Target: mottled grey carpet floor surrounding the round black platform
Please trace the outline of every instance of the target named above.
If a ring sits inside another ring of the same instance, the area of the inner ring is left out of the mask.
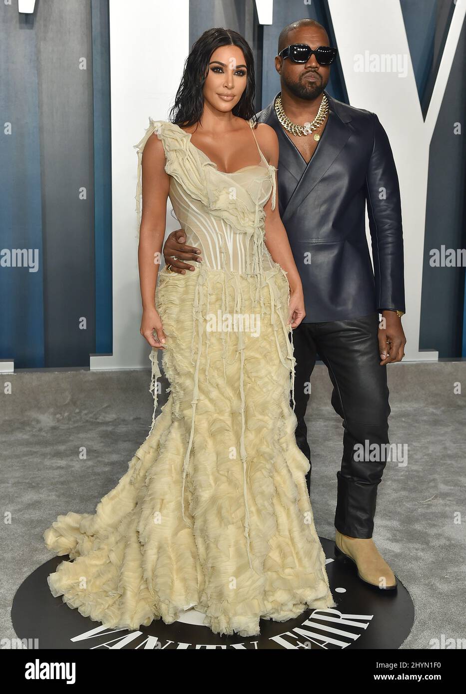
[[[415,624],[401,648],[465,636],[466,362],[388,366],[390,441],[406,444],[407,464],[388,462],[378,487],[374,541],[415,604]],[[58,514],[93,513],[128,468],[149,432],[149,371],[19,371],[1,376],[0,629],[15,638],[13,596],[51,558],[42,532]],[[165,382],[166,384],[166,382]],[[4,387],[2,388],[2,392]],[[334,539],[341,420],[331,383],[318,364],[308,427],[313,457],[311,500],[317,532]],[[160,403],[165,402],[165,387]],[[85,448],[86,455],[80,455]]]

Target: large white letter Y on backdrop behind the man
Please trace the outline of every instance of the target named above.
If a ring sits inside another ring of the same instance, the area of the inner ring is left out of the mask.
[[[397,165],[405,253],[406,358],[435,360],[437,352],[419,352],[428,155],[465,18],[466,0],[455,3],[425,121],[399,0],[328,0],[328,7],[349,103],[378,115]],[[452,114],[452,128],[456,120]]]

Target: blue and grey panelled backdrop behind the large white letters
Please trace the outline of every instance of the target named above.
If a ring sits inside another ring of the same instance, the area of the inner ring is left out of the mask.
[[[113,350],[108,1],[39,5],[34,15],[0,5],[0,359],[17,369],[88,366]],[[425,116],[453,3],[401,9]],[[190,0],[190,42],[210,26],[247,37],[260,110],[279,90],[278,34],[301,17],[335,43],[326,0],[276,2],[272,26],[258,24],[253,0]],[[466,151],[452,126],[466,111],[464,60],[463,27],[431,144],[424,247],[420,347],[444,358],[466,356],[465,269],[433,269],[428,251],[466,246]],[[347,103],[339,62],[328,91]],[[11,266],[15,248],[28,251],[26,266]]]

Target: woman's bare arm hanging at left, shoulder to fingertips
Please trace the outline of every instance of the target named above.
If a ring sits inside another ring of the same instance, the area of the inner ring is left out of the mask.
[[[138,265],[142,299],[141,335],[152,347],[165,342],[162,321],[156,310],[158,268],[165,236],[169,176],[165,171],[165,151],[156,133],[142,152],[142,217],[139,231]],[[158,339],[153,337],[156,330]]]

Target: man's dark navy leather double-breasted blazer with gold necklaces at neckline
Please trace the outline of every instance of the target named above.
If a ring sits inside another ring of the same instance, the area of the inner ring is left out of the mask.
[[[303,282],[304,322],[404,311],[401,204],[390,142],[375,113],[326,96],[328,121],[309,164],[273,103],[257,115],[278,135],[278,207]]]

